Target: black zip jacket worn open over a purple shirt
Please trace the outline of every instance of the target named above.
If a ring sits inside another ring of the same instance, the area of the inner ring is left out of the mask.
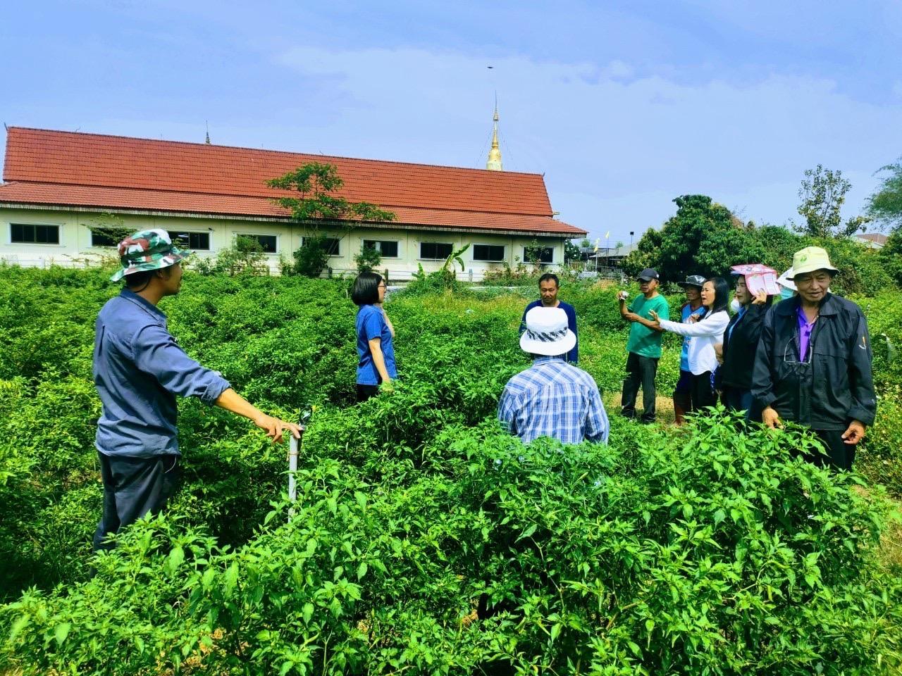
[[[798,297],[764,317],[751,393],[761,407],[815,430],[844,430],[852,418],[873,425],[877,411],[870,374],[870,336],[861,308],[827,294],[799,357]]]

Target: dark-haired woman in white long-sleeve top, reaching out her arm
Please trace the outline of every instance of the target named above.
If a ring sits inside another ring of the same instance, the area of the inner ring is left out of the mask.
[[[681,324],[661,319],[651,313],[653,324],[665,331],[687,336],[689,341],[689,370],[692,371],[692,403],[696,411],[711,407],[717,402],[714,394],[713,372],[717,369],[714,345],[723,343],[723,332],[730,324],[727,307],[730,304],[730,286],[726,279],[707,279],[702,287],[702,306],[705,312],[695,324]]]

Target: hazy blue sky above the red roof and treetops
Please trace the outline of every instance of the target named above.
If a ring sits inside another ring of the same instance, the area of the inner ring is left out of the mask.
[[[505,169],[613,244],[687,193],[798,220],[817,163],[858,213],[902,155],[899,44],[869,0],[18,3],[0,119],[483,167],[497,91]]]

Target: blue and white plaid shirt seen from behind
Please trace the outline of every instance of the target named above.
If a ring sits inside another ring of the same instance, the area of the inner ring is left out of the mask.
[[[594,379],[560,357],[539,357],[504,387],[498,419],[529,443],[550,436],[563,443],[608,441],[608,416]]]

